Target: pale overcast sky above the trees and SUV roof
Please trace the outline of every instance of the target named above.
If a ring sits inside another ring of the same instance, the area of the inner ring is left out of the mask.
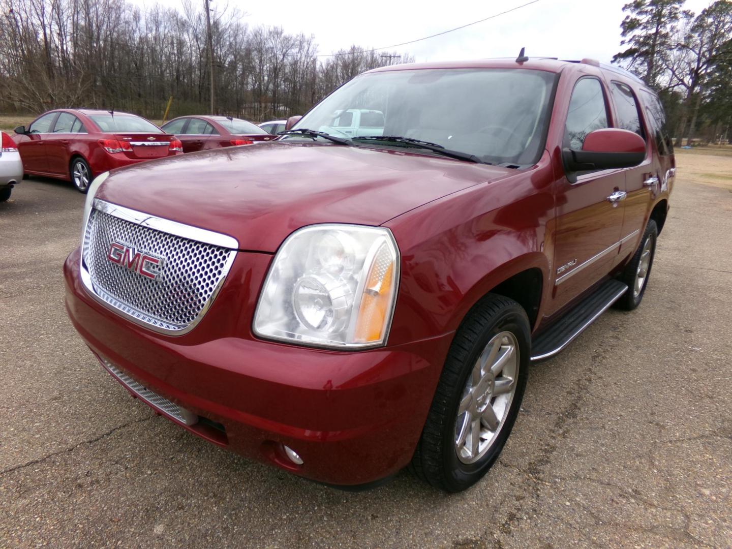
[[[132,0],[142,6],[157,0]],[[200,1],[203,4],[203,0]],[[237,8],[249,26],[281,26],[314,34],[318,53],[360,45],[381,48],[496,15],[530,0],[212,0],[215,10]],[[620,51],[622,7],[629,0],[538,0],[519,10],[414,44],[393,48],[417,61],[517,56],[591,57],[610,62]],[[166,6],[179,5],[176,0]],[[687,0],[695,13],[710,0]]]

